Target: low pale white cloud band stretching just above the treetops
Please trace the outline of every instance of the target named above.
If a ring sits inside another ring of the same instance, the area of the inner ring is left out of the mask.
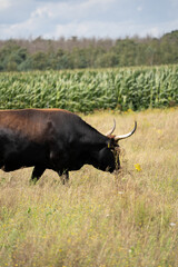
[[[70,38],[77,36],[79,38],[120,38],[132,37],[138,34],[145,37],[150,34],[152,37],[159,37],[171,30],[176,30],[178,20],[167,23],[155,24],[137,24],[134,21],[123,22],[103,22],[103,21],[72,21],[65,24],[58,23],[53,26],[44,17],[31,17],[29,20],[22,23],[16,23],[7,28],[7,26],[0,26],[1,37],[3,38],[29,38],[42,36],[43,38],[60,38],[61,36]],[[43,31],[44,29],[44,31]]]

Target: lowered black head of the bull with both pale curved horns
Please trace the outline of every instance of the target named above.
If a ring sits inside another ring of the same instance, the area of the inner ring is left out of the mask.
[[[120,160],[119,160],[119,145],[118,141],[130,137],[137,129],[137,122],[135,121],[134,129],[122,136],[115,136],[112,132],[116,129],[116,121],[113,120],[113,127],[109,130],[107,136],[107,146],[99,151],[99,169],[108,170],[109,172],[113,172],[120,168]]]

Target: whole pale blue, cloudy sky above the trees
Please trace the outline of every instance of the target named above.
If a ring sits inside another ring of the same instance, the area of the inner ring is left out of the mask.
[[[178,0],[0,0],[0,39],[160,37],[178,29]]]

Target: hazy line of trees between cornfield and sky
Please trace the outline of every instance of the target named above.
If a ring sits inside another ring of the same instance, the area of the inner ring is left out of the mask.
[[[178,63],[178,30],[160,38],[0,40],[0,71]]]

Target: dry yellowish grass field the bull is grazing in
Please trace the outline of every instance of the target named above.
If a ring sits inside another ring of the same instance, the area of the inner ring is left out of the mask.
[[[116,118],[119,176],[90,166],[62,186],[46,171],[0,171],[0,267],[178,266],[178,109],[82,116],[101,132]]]

